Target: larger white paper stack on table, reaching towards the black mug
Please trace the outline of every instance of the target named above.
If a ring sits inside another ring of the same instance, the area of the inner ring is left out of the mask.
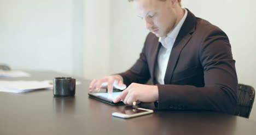
[[[0,91],[21,93],[40,89],[53,89],[49,80],[45,81],[2,81],[0,80]]]

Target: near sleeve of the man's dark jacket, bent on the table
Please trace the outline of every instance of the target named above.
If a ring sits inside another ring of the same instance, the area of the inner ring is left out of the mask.
[[[220,30],[208,33],[199,51],[205,86],[158,85],[158,109],[200,109],[234,114],[238,84],[229,39]]]

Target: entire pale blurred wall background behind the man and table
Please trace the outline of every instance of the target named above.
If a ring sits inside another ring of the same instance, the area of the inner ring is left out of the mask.
[[[228,34],[238,82],[256,89],[256,1],[182,5]],[[127,0],[0,0],[0,63],[12,69],[102,78],[129,69],[147,34]]]

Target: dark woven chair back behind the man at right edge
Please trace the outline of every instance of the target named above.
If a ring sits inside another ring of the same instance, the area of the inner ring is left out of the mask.
[[[254,97],[255,91],[252,86],[238,84],[237,106],[235,115],[249,118],[253,107]]]

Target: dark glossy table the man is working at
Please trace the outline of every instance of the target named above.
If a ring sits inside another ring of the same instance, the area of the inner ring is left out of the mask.
[[[30,72],[23,80],[51,80],[65,75]],[[20,80],[0,79],[0,80]],[[156,110],[132,119],[112,117],[125,105],[113,106],[88,97],[89,80],[77,79],[75,97],[54,97],[52,90],[0,92],[0,134],[255,134],[253,120],[210,111]]]

